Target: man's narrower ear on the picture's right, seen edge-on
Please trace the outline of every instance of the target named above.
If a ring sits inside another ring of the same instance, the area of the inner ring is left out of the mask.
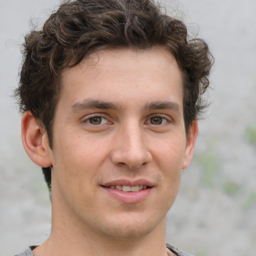
[[[186,137],[186,147],[185,147],[185,154],[184,154],[184,159],[182,163],[182,169],[186,168],[192,159],[194,144],[195,144],[197,134],[198,134],[197,120],[194,120],[190,125],[189,131]]]

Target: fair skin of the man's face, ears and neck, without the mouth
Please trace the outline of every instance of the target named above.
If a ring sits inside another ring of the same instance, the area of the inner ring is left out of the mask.
[[[64,71],[61,86],[52,150],[31,113],[22,118],[28,155],[52,165],[51,234],[34,255],[167,255],[166,212],[197,136],[196,121],[185,134],[174,57],[102,50]],[[120,179],[146,180],[149,192],[116,198],[104,185]]]

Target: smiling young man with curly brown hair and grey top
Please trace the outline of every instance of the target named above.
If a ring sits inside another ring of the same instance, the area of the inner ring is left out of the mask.
[[[151,0],[71,1],[31,31],[16,95],[52,226],[18,255],[190,255],[165,244],[166,213],[211,64]]]

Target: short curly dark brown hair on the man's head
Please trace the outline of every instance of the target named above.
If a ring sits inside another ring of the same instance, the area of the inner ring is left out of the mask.
[[[30,110],[45,128],[52,148],[52,122],[58,101],[61,72],[100,49],[155,45],[167,48],[183,76],[183,115],[188,132],[205,102],[213,63],[208,46],[188,39],[184,23],[170,17],[153,0],[66,1],[42,29],[25,36],[23,65],[17,96],[20,112]],[[50,167],[43,168],[50,189]]]

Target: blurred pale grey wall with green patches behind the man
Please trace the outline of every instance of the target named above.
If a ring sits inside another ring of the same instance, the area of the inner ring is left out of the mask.
[[[215,63],[194,158],[168,212],[166,240],[196,256],[256,255],[256,0],[162,0]],[[0,256],[44,241],[50,201],[25,154],[10,97],[29,20],[43,24],[54,0],[0,0]]]

